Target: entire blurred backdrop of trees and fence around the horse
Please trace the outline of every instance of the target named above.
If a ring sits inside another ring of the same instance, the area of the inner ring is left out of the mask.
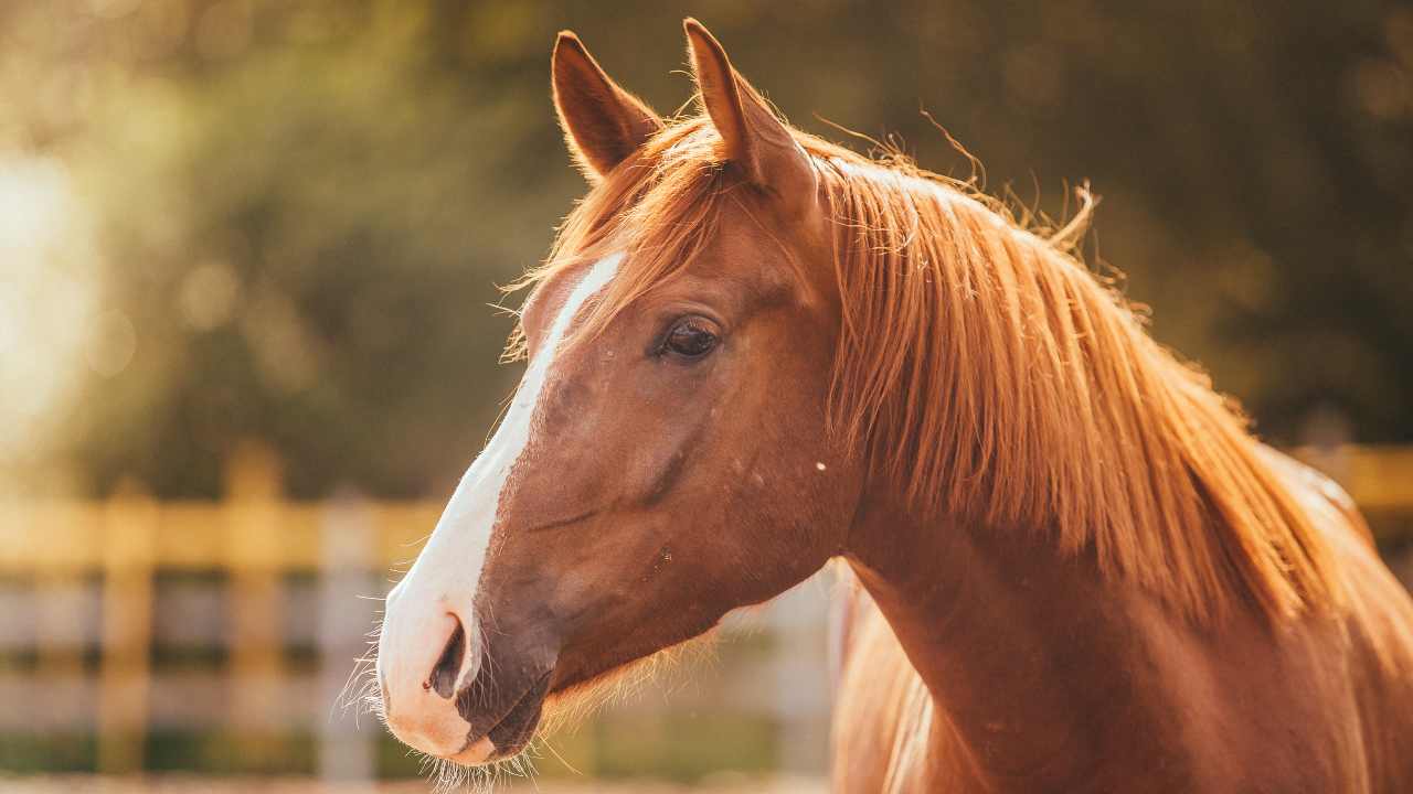
[[[335,704],[519,377],[496,285],[584,192],[554,32],[673,112],[685,14],[805,130],[965,177],[927,110],[1056,216],[1089,179],[1091,261],[1413,581],[1406,3],[6,0],[0,786],[425,790]],[[561,733],[543,790],[818,791],[828,586]]]

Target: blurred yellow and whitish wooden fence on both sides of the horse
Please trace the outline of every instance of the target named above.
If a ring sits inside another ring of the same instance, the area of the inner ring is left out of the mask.
[[[1299,455],[1331,472],[1365,510],[1413,513],[1413,448],[1341,446]],[[406,569],[442,509],[441,503],[374,503],[352,494],[321,503],[285,502],[277,461],[259,446],[232,459],[226,486],[226,499],[219,503],[158,503],[140,487],[124,486],[97,503],[0,504],[0,578],[25,582],[34,591],[35,671],[49,684],[88,681],[102,771],[144,767],[158,572],[225,575],[229,653],[220,675],[230,694],[222,719],[237,729],[259,728],[270,715],[284,713],[281,699],[290,691],[278,620],[284,576],[304,572],[318,581],[317,644],[324,672],[311,698],[332,705],[352,660],[366,647],[365,633],[377,606],[366,599],[386,593],[386,571]],[[1405,575],[1413,572],[1413,543],[1382,540],[1403,543]],[[100,582],[97,668],[88,675],[82,657],[92,643],[90,632],[79,624],[81,610],[65,606],[62,593],[95,579]],[[762,677],[763,691],[742,698],[759,701],[764,694],[779,722],[796,726],[790,729],[796,740],[783,743],[786,753],[798,756],[786,759],[796,770],[822,764],[828,709],[818,653],[822,602],[797,598],[787,609],[777,608],[769,624],[786,639],[786,647],[770,663],[774,674]],[[352,608],[359,603],[365,608]],[[801,644],[817,647],[803,651]],[[814,661],[801,668],[801,658]],[[780,687],[780,681],[791,685]],[[336,767],[343,776],[372,774],[367,739],[350,737],[341,721],[322,722],[326,725],[315,726],[321,766]]]

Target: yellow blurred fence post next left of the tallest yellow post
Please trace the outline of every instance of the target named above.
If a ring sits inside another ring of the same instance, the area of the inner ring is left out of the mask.
[[[136,483],[120,486],[103,510],[97,769],[105,774],[143,769],[157,521],[157,503]]]

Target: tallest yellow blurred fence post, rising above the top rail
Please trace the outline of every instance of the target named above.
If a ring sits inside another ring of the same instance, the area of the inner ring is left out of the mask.
[[[259,442],[242,442],[226,462],[230,723],[253,766],[266,756],[268,715],[281,705],[280,476],[280,461]]]

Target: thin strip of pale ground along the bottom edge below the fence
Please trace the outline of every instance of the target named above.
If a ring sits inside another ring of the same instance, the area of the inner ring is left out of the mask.
[[[114,778],[97,776],[4,777],[4,794],[428,794],[430,781],[384,784],[321,783],[308,778],[212,778],[158,776]],[[471,794],[471,788],[459,788]],[[661,783],[565,783],[513,781],[497,784],[504,794],[824,794],[824,784],[812,780],[721,780],[695,787]]]

